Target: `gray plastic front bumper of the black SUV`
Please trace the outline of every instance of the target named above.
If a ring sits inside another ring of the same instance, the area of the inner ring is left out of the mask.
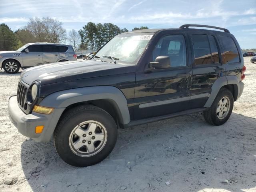
[[[18,131],[36,142],[48,142],[52,137],[54,129],[58,120],[65,108],[55,108],[50,115],[39,114],[32,112],[32,114],[25,114],[17,103],[17,97],[11,96],[8,102],[9,117]],[[36,133],[36,126],[44,126],[42,133]]]

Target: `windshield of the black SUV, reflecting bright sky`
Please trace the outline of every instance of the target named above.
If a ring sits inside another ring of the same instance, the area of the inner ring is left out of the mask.
[[[95,58],[110,62],[113,58],[118,63],[136,64],[152,36],[152,33],[120,34],[104,45]]]

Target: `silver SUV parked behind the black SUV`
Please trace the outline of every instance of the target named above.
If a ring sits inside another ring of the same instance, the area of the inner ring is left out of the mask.
[[[4,68],[7,73],[17,73],[20,68],[75,60],[73,47],[58,43],[28,43],[17,51],[0,51],[1,69]]]

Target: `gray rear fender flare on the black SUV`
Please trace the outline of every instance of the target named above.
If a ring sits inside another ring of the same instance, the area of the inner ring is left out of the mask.
[[[234,94],[235,94],[234,98],[238,98],[240,95],[240,85],[239,85],[237,76],[235,75],[222,76],[218,78],[212,85],[212,92],[206,104],[204,104],[204,107],[207,107],[207,108],[211,107],[220,88],[228,84],[234,84]]]

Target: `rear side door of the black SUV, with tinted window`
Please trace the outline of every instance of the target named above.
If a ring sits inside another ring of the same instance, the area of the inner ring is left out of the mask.
[[[212,85],[224,76],[225,66],[220,57],[220,46],[213,32],[190,32],[193,75],[189,108],[203,107],[212,92]]]

